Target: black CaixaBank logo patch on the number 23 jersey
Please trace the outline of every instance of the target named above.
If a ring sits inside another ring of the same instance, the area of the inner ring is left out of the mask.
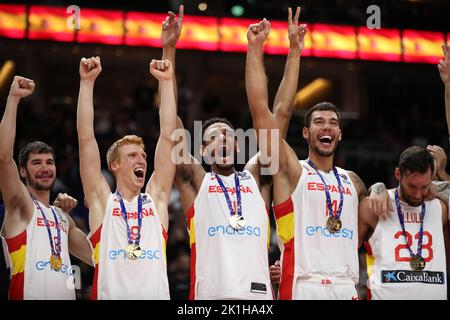
[[[445,277],[443,272],[436,271],[382,270],[381,282],[445,284]]]

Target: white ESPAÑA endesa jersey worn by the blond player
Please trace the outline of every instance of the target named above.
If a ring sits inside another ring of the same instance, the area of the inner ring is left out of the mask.
[[[92,299],[170,299],[167,279],[167,233],[161,225],[152,197],[142,197],[142,255],[131,260],[126,256],[127,226],[120,202],[110,194],[102,225],[89,236],[94,252],[95,273]],[[133,242],[138,234],[136,196],[123,199]]]

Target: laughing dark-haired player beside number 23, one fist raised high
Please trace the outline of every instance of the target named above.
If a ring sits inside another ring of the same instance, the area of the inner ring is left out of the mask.
[[[278,129],[267,104],[263,65],[269,32],[266,19],[249,26],[246,88],[260,152],[270,157],[264,162],[279,161],[273,197],[281,246],[280,299],[357,299],[358,198],[366,189],[356,174],[333,164],[341,140],[340,116],[333,104],[319,103],[305,116],[306,161],[299,162],[283,139],[263,136],[260,129]],[[279,156],[269,152],[272,143],[278,143]]]

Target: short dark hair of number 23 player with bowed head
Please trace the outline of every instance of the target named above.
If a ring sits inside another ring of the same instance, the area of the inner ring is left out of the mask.
[[[412,146],[402,152],[398,160],[398,168],[402,175],[412,172],[434,172],[434,160],[430,152],[423,147]]]

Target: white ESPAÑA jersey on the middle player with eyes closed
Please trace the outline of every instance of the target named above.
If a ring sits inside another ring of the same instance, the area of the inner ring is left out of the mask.
[[[236,210],[234,174],[222,176]],[[255,178],[239,173],[243,229],[229,224],[230,210],[213,173],[206,173],[187,213],[191,247],[190,299],[273,299],[269,276],[269,216]]]

